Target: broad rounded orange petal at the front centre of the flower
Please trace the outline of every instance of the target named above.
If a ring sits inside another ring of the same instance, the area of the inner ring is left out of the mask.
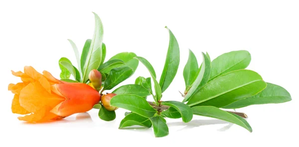
[[[19,95],[20,106],[32,113],[39,113],[40,109],[53,109],[65,98],[48,93],[39,82],[29,83]],[[50,110],[51,110],[50,109]]]

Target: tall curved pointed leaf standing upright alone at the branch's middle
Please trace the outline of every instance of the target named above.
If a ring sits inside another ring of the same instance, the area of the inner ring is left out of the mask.
[[[167,26],[165,26],[165,28],[167,28],[169,32],[169,45],[164,69],[159,82],[162,93],[168,88],[174,79],[179,64],[178,43],[171,30]]]

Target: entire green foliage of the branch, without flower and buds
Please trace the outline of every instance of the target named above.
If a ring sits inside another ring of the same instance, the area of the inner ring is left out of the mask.
[[[169,134],[165,118],[181,119],[188,123],[193,115],[231,122],[252,132],[244,118],[224,109],[292,100],[286,89],[267,83],[257,72],[246,69],[251,61],[251,54],[246,50],[224,53],[212,61],[208,53],[202,52],[202,62],[198,64],[195,54],[189,49],[188,61],[183,70],[185,89],[182,101],[162,101],[162,94],[176,76],[180,62],[178,42],[171,30],[167,30],[168,50],[163,71],[157,80],[157,74],[149,61],[135,53],[119,53],[104,62],[106,45],[103,43],[103,25],[95,14],[94,36],[86,40],[81,58],[75,43],[69,40],[78,68],[63,57],[59,60],[60,77],[64,81],[88,84],[88,73],[97,69],[102,73],[103,93],[132,76],[141,62],[148,69],[150,77],[140,76],[135,84],[116,88],[112,93],[117,95],[111,99],[110,105],[131,111],[125,114],[120,129],[131,126],[153,127],[155,137]],[[69,79],[70,75],[73,75],[74,80]],[[153,102],[147,101],[149,96],[152,96]],[[116,118],[115,111],[106,110],[101,103],[94,108],[99,109],[99,117],[104,121]]]

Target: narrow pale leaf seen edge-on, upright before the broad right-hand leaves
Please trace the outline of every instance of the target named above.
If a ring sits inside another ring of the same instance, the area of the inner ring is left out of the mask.
[[[200,72],[196,80],[194,81],[192,87],[185,95],[183,102],[189,101],[190,98],[209,81],[211,71],[211,60],[204,53],[202,53],[202,57],[203,61],[201,64]]]

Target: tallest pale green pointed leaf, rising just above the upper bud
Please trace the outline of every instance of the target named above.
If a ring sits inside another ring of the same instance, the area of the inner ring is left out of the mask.
[[[102,62],[103,24],[100,17],[95,15],[95,31],[88,50],[86,62],[84,64],[83,82],[88,80],[88,74],[93,69],[98,69]]]

